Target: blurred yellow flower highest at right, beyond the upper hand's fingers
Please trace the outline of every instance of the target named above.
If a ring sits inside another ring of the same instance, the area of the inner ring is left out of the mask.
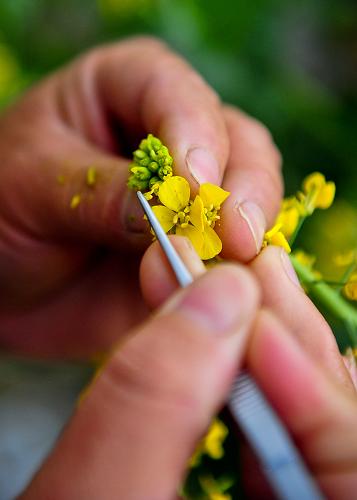
[[[329,208],[335,198],[336,186],[334,182],[326,182],[320,172],[308,175],[303,181],[303,193],[300,193],[301,202],[306,215],[311,215],[315,208]]]

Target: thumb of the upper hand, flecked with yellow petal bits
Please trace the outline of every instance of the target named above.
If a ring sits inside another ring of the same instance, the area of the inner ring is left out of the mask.
[[[43,92],[36,92],[5,121],[1,148],[2,157],[8,160],[1,171],[6,186],[1,191],[4,219],[41,241],[148,244],[142,209],[126,186],[127,160],[105,153],[68,127],[59,126],[58,117],[52,114],[45,114],[29,129],[25,121],[28,107],[41,108],[41,96],[49,98],[48,89]],[[16,154],[14,130],[24,136]],[[93,179],[88,178],[91,170]]]

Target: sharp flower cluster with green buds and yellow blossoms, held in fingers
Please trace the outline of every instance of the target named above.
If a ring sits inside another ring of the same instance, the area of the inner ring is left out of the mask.
[[[189,183],[184,177],[173,175],[172,163],[167,147],[149,134],[134,151],[128,187],[143,191],[148,200],[155,197],[161,203],[152,208],[166,233],[185,236],[202,260],[212,259],[222,250],[214,226],[229,193],[206,183],[191,199]]]

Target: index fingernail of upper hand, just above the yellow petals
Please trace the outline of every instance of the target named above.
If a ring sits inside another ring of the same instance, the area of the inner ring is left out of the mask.
[[[198,184],[219,184],[219,165],[215,157],[205,148],[194,147],[186,155],[187,168]]]

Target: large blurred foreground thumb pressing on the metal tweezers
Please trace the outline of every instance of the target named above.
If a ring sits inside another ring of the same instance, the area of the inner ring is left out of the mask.
[[[233,265],[174,295],[113,354],[22,498],[176,497],[229,390],[257,302],[255,282]]]

